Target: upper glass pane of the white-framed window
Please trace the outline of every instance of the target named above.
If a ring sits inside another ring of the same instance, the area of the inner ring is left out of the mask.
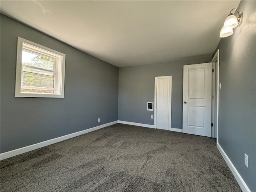
[[[54,70],[54,60],[30,52],[22,51],[22,64]]]

